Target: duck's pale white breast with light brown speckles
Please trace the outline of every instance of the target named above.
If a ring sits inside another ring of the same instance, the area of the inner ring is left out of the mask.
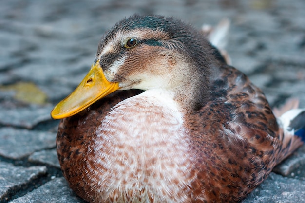
[[[96,129],[92,169],[102,199],[185,202],[191,183],[189,136],[177,104],[146,91],[126,99]]]

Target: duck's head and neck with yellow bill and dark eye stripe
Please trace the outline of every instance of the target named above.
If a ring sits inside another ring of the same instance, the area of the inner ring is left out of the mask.
[[[51,116],[72,116],[116,90],[129,89],[162,89],[194,111],[208,95],[213,51],[196,30],[174,18],[123,19],[102,37],[91,70]]]

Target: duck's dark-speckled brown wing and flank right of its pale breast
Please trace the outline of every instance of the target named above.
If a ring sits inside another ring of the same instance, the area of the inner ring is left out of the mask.
[[[284,133],[264,93],[240,71],[228,65],[217,68],[210,88],[209,102],[189,124],[196,146],[194,157],[198,163],[204,163],[196,166],[204,181],[192,186],[205,187],[205,196],[211,200],[238,201],[302,142]],[[197,195],[199,198],[200,193]]]

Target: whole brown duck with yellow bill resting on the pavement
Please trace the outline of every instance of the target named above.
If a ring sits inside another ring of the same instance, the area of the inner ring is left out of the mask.
[[[63,176],[90,203],[235,203],[303,144],[304,112],[275,117],[191,25],[135,14],[51,116]]]

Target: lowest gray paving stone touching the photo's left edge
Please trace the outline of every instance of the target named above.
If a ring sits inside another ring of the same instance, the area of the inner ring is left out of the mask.
[[[46,172],[46,166],[22,167],[0,162],[0,202],[4,202],[9,193],[25,187]]]

